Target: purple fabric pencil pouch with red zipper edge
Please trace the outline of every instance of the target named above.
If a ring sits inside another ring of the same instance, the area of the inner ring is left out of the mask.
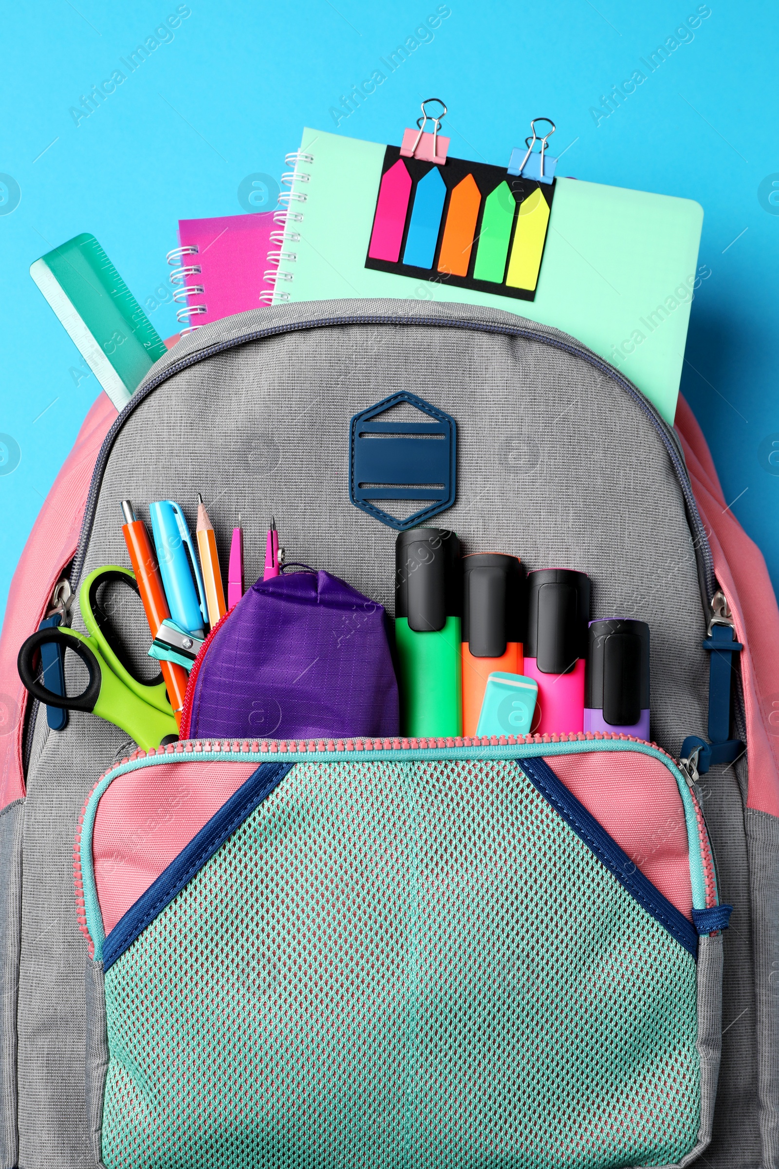
[[[397,735],[384,609],[329,573],[257,581],[193,666],[181,738]]]

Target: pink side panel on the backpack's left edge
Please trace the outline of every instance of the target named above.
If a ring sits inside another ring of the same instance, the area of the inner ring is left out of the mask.
[[[72,450],[43,500],[11,582],[0,635],[0,808],[25,795],[22,731],[28,694],[16,672],[19,649],[46,614],[54,586],[72,560],[98,451],[117,408],[100,393],[84,419]]]

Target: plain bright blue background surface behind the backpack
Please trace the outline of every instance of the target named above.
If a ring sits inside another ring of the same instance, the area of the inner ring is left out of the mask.
[[[767,459],[771,436],[779,442],[779,214],[758,200],[761,180],[779,178],[775,9],[712,0],[694,39],[596,125],[590,108],[634,70],[648,72],[640,58],[697,4],[451,0],[448,7],[433,39],[339,132],[397,143],[422,98],[434,94],[450,108],[452,153],[501,164],[529,119],[548,115],[558,126],[552,153],[569,147],[562,174],[702,203],[700,262],[710,275],[693,304],[682,390],[725,498],[779,584],[779,465]],[[0,431],[15,438],[21,458],[0,475],[0,606],[99,389],[93,375],[76,383],[71,371],[83,364],[30,279],[32,261],[92,231],[144,304],[167,279],[176,220],[241,213],[242,179],[260,172],[278,181],[304,124],[335,130],[331,108],[383,68],[380,57],[413,35],[437,4],[193,0],[174,39],[76,126],[70,106],[176,8],[168,0],[48,0],[4,9],[0,172],[16,180],[21,201],[0,214]],[[162,337],[176,332],[169,300],[149,316]]]

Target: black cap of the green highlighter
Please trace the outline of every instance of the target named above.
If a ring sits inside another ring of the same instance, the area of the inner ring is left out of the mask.
[[[440,527],[399,532],[395,541],[395,616],[417,634],[438,632],[462,611],[460,541]]]

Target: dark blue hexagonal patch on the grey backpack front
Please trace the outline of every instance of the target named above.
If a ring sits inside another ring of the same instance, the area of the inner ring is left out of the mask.
[[[434,421],[378,421],[401,402]],[[349,496],[355,507],[405,532],[452,506],[457,494],[457,423],[451,415],[402,390],[355,414],[350,429]],[[381,499],[430,504],[398,519],[376,506]]]

